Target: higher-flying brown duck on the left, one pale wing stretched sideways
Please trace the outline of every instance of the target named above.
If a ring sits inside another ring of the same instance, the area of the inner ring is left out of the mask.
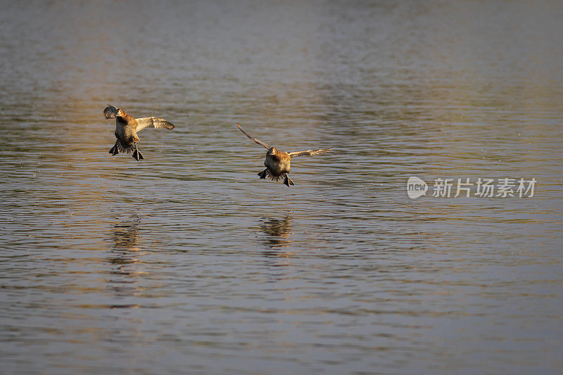
[[[109,153],[112,156],[118,153],[130,153],[133,151],[133,158],[137,161],[143,160],[143,154],[137,148],[137,142],[140,141],[137,132],[146,127],[154,127],[156,129],[174,129],[174,125],[167,120],[159,117],[141,117],[135,118],[125,113],[121,108],[115,108],[108,104],[103,110],[106,119],[115,118],[115,144],[110,148]]]

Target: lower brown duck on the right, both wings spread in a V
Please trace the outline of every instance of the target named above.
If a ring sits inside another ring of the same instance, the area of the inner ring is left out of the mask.
[[[243,132],[244,135],[248,136],[248,138],[267,149],[266,159],[264,160],[264,166],[266,169],[262,170],[262,172],[258,172],[258,177],[260,177],[260,179],[268,177],[273,181],[279,181],[279,179],[283,178],[284,184],[287,187],[295,185],[288,176],[289,171],[291,170],[291,158],[296,158],[297,156],[320,155],[322,153],[332,151],[332,148],[317,148],[316,150],[293,151],[291,153],[286,153],[253,138],[241,128],[241,125],[238,122],[236,123],[236,126],[238,126],[240,131]]]

